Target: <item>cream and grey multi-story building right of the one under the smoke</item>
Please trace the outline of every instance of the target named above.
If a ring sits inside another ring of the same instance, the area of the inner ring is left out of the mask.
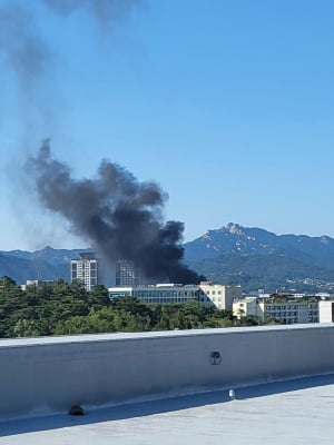
[[[284,324],[317,323],[318,299],[316,297],[246,297],[233,303],[236,317],[256,316],[262,320]]]

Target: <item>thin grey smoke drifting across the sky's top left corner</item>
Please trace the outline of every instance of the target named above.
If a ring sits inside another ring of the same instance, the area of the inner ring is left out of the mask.
[[[52,48],[38,29],[36,7],[58,16],[85,10],[102,31],[110,31],[145,0],[0,0],[0,62],[16,72],[20,95],[32,101]],[[60,31],[61,32],[61,31]],[[2,67],[3,69],[3,67]]]

